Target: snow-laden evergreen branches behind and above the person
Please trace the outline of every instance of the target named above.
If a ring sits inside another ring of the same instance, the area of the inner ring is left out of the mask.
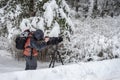
[[[29,28],[31,31],[42,29],[46,35],[55,28],[69,37],[72,32],[70,8],[65,0],[2,0],[0,5],[0,36],[7,37],[13,44],[16,34]],[[54,35],[56,36],[56,35]],[[14,53],[13,48],[13,53]]]

